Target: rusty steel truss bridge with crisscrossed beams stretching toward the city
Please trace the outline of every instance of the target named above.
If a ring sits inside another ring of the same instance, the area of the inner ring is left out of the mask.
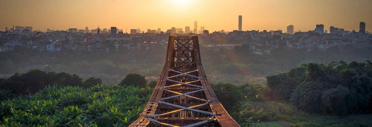
[[[240,127],[208,83],[197,36],[169,36],[160,79],[129,127]]]

